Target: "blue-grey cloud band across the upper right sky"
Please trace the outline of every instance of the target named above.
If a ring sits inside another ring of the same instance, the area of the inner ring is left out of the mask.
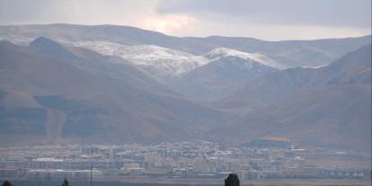
[[[275,24],[371,26],[370,0],[163,0],[157,11],[196,17],[217,13]]]

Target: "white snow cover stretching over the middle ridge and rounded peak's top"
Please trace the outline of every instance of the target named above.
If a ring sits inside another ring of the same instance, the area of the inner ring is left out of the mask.
[[[217,48],[205,55],[197,56],[176,49],[167,49],[155,45],[122,45],[105,40],[70,43],[75,47],[92,49],[106,56],[125,58],[134,65],[140,66],[160,77],[182,76],[190,71],[208,65],[221,58],[241,58],[249,68],[252,63],[274,68],[283,68],[273,59],[262,54],[246,53],[235,49]]]

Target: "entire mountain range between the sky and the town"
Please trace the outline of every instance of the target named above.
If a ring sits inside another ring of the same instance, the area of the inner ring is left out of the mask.
[[[115,25],[0,26],[6,144],[370,147],[371,36],[178,38]]]

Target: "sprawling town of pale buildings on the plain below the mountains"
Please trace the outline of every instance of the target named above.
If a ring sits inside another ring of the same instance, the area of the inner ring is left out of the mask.
[[[320,149],[316,149],[320,150]],[[0,147],[0,178],[104,180],[120,178],[221,178],[243,180],[368,179],[370,169],[306,164],[313,151],[286,140],[258,139],[239,146],[208,141],[152,145]]]

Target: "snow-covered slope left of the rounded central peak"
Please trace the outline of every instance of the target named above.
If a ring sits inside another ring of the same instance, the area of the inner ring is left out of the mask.
[[[128,59],[160,76],[179,76],[208,64],[208,58],[155,45],[121,45],[109,41],[72,43],[76,47],[92,49],[106,56]]]

